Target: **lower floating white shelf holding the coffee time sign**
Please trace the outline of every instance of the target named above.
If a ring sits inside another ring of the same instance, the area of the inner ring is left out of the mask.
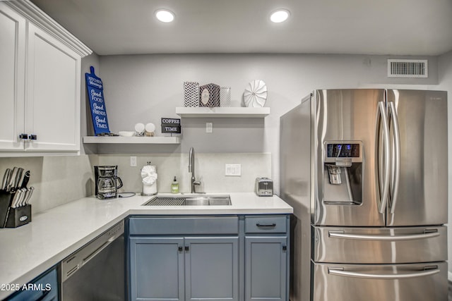
[[[154,145],[178,145],[181,143],[180,137],[97,137],[97,136],[84,136],[83,143],[118,143],[118,144],[154,144]]]

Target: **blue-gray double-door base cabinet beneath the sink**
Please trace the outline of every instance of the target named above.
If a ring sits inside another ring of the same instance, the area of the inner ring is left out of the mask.
[[[131,300],[239,300],[238,219],[199,219],[131,220]]]

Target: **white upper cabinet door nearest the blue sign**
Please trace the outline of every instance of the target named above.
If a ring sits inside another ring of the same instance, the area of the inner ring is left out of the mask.
[[[27,55],[25,150],[80,150],[81,56],[32,23]]]

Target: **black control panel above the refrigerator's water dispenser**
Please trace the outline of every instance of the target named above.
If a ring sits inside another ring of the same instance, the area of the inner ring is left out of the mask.
[[[361,141],[327,141],[325,146],[325,162],[337,165],[338,161],[362,162]]]

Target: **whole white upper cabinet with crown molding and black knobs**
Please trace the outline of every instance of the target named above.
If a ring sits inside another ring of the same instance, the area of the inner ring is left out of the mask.
[[[84,44],[29,1],[0,1],[0,155],[80,151]]]

